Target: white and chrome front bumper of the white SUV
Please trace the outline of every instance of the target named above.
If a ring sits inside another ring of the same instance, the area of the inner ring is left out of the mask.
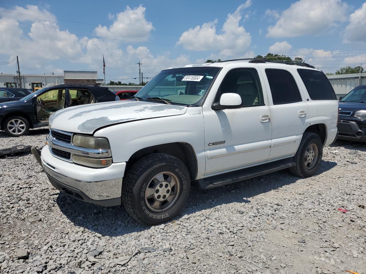
[[[48,145],[42,148],[41,163],[56,189],[97,205],[121,204],[122,177],[126,163],[113,163],[106,168],[83,167],[54,157]]]

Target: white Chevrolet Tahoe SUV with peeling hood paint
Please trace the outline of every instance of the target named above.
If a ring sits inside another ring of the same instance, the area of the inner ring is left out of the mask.
[[[332,86],[310,65],[193,64],[160,72],[130,100],[57,111],[34,155],[60,191],[159,224],[182,210],[191,183],[313,175],[337,116]]]

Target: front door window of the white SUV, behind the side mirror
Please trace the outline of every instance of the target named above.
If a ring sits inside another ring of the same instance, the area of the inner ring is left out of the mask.
[[[215,102],[219,102],[221,94],[236,93],[242,98],[242,107],[264,106],[263,92],[256,69],[233,69],[227,73]]]

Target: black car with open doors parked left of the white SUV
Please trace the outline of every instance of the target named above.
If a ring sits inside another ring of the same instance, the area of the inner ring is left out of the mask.
[[[48,126],[49,117],[57,110],[115,100],[119,101],[118,96],[107,87],[98,85],[55,85],[42,88],[18,101],[0,103],[0,129],[9,136],[22,136],[30,128]]]

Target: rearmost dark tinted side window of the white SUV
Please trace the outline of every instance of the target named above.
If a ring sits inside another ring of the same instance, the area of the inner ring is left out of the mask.
[[[332,85],[320,71],[298,69],[311,100],[337,100]]]

